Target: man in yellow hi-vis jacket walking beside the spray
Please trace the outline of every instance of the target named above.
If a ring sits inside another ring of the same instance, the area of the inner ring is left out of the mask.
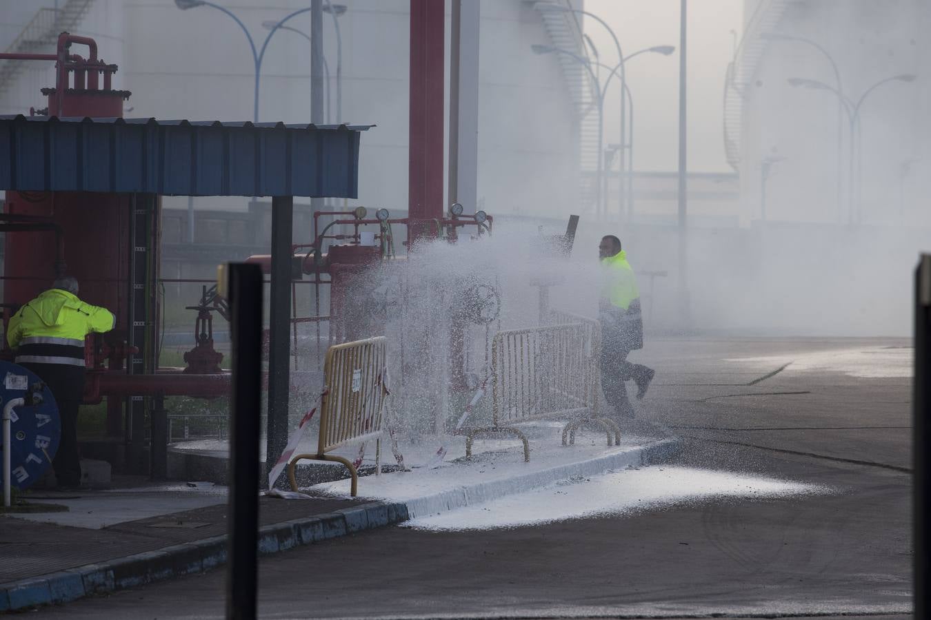
[[[637,277],[621,241],[614,235],[601,238],[598,246],[604,285],[601,290],[601,389],[618,416],[634,416],[627,400],[625,382],[637,383],[637,398],[643,398],[654,370],[639,363],[627,362],[627,354],[643,348],[643,321]]]

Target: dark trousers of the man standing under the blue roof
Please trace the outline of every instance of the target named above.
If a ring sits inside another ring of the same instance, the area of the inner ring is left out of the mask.
[[[52,459],[59,486],[81,482],[81,462],[77,454],[77,408],[84,401],[84,367],[66,363],[20,363],[33,371],[51,390],[61,419],[61,442]]]

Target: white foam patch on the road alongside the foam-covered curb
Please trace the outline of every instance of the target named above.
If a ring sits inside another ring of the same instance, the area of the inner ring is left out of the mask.
[[[575,477],[542,489],[407,521],[423,530],[487,530],[631,514],[704,498],[769,498],[830,493],[821,485],[729,471],[649,467]]]

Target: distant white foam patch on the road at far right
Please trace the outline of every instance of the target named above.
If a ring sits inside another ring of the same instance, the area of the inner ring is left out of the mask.
[[[912,375],[914,350],[909,348],[861,347],[771,355],[766,357],[733,358],[734,363],[779,367],[789,363],[787,371],[821,370],[843,373],[857,378],[908,378]]]

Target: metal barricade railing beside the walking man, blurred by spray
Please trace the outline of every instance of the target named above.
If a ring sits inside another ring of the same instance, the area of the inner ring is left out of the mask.
[[[614,421],[598,416],[600,326],[597,321],[552,313],[559,323],[498,332],[492,340],[492,425],[466,432],[466,456],[480,434],[510,434],[530,445],[516,424],[569,418],[562,443],[590,423],[604,429],[608,445],[620,443]]]

